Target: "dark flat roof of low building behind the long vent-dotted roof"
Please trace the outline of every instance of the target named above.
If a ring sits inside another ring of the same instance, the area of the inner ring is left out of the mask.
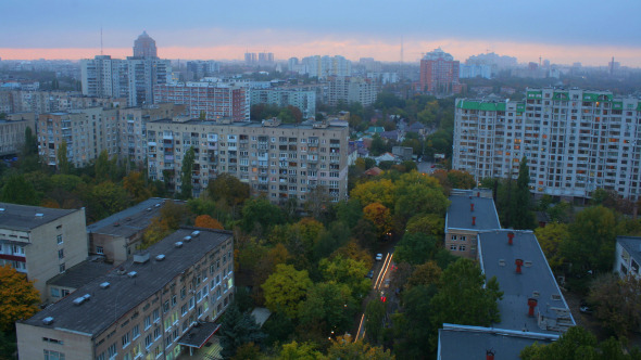
[[[165,198],[151,197],[87,227],[88,233],[129,237],[144,230],[160,215]]]

